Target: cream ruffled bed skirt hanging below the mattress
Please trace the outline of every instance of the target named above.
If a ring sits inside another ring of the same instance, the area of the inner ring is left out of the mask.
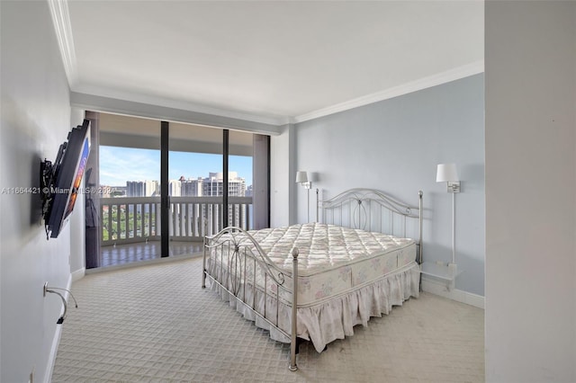
[[[388,274],[378,281],[328,301],[311,307],[298,307],[298,336],[310,340],[316,351],[322,352],[328,343],[353,335],[355,325],[366,326],[372,316],[387,315],[393,306],[401,306],[402,302],[410,297],[418,298],[419,278],[419,265],[413,263],[401,272]],[[249,294],[252,289],[247,289],[245,299],[250,302],[247,304],[210,278],[208,280],[211,282],[211,289],[218,291],[220,297],[229,302],[230,307],[235,307],[258,327],[268,330],[275,341],[290,343],[292,308],[289,304],[266,297],[266,321],[252,309],[254,305],[258,312],[264,312],[263,295],[257,292],[254,299]]]

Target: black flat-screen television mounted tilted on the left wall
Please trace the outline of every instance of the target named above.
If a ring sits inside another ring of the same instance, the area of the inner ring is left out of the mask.
[[[50,196],[44,215],[47,234],[52,238],[58,237],[74,209],[89,154],[90,121],[84,120],[68,133],[67,142],[60,146],[52,165],[53,182],[48,187]]]

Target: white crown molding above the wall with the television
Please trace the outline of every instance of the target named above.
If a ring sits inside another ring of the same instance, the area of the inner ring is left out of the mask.
[[[68,79],[68,85],[73,88],[78,80],[76,72],[76,50],[74,49],[74,40],[72,38],[72,26],[70,24],[70,13],[68,12],[67,0],[48,0],[54,31],[62,63]]]

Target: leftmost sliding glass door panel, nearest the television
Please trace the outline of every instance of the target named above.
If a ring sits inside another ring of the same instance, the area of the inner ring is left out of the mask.
[[[98,129],[98,150],[93,147],[91,153],[99,159],[97,181],[102,191],[99,211],[91,214],[100,224],[100,264],[94,267],[156,258],[162,218],[160,125],[155,120],[99,113]]]

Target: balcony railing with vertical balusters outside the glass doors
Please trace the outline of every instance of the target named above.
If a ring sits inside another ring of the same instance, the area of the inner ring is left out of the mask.
[[[170,197],[169,236],[178,241],[202,241],[220,231],[222,197]],[[252,197],[229,197],[229,225],[251,228]],[[100,199],[102,245],[159,240],[160,197]]]

